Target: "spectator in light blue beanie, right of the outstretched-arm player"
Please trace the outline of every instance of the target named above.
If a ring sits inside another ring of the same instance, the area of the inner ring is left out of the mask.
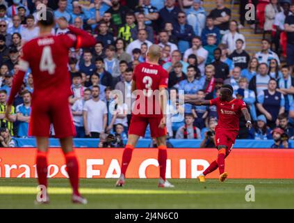
[[[250,139],[272,139],[271,130],[266,125],[266,116],[263,114],[257,117],[257,123],[255,123],[253,128],[250,130]]]

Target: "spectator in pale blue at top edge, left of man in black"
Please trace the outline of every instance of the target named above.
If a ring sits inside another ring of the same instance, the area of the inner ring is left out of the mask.
[[[201,36],[205,26],[206,12],[201,6],[200,0],[194,0],[193,6],[186,10],[187,21],[193,27],[196,36]]]

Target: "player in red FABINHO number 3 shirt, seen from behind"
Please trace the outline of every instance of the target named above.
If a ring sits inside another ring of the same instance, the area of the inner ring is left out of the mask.
[[[133,149],[140,136],[145,136],[145,130],[149,123],[151,136],[155,137],[158,145],[158,163],[160,178],[158,187],[174,187],[165,179],[167,149],[166,149],[166,113],[168,85],[168,72],[158,65],[161,57],[161,48],[158,45],[149,47],[147,63],[136,66],[133,75],[132,93],[137,95],[132,111],[129,127],[129,139],[122,155],[121,175],[116,186],[121,187],[125,183],[126,169],[131,161]],[[136,91],[135,91],[136,90]],[[142,100],[143,99],[143,100]]]

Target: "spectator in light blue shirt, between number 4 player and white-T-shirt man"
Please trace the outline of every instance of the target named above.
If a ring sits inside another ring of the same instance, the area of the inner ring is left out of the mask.
[[[90,100],[91,90],[85,89],[83,91],[83,97],[79,98],[72,105],[72,116],[74,121],[74,126],[76,128],[76,137],[84,138],[85,137],[85,128],[83,126],[83,105],[87,100]]]

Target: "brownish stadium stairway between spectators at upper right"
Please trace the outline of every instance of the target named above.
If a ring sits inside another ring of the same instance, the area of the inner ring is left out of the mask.
[[[239,14],[239,2],[242,0],[234,0],[234,4],[231,4],[231,0],[225,0],[224,5],[227,8],[231,9],[231,20],[236,20],[240,24],[240,14]],[[215,8],[215,0],[204,0],[202,5],[206,13],[209,14],[211,10]],[[250,24],[245,22],[245,27],[240,29],[240,33],[245,36],[246,40],[246,51],[250,56],[253,56],[256,52],[258,52],[261,48],[261,39],[263,38],[263,34],[254,33],[254,29],[250,28]]]

